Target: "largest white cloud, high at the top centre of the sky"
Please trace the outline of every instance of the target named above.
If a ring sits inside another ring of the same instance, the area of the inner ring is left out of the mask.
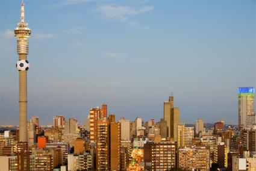
[[[137,16],[139,14],[147,13],[151,10],[154,10],[153,6],[145,6],[143,8],[136,9],[128,6],[115,7],[111,5],[103,5],[96,9],[96,11],[101,13],[104,17],[120,21],[126,21],[130,16]]]

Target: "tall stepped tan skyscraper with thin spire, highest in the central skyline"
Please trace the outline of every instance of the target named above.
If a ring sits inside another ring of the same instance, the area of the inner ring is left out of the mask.
[[[164,120],[167,122],[168,137],[177,141],[177,126],[180,123],[180,108],[173,106],[173,96],[164,102]]]

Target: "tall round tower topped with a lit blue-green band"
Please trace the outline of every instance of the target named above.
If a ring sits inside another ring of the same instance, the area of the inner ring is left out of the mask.
[[[255,123],[254,87],[239,87],[239,125],[248,128]]]

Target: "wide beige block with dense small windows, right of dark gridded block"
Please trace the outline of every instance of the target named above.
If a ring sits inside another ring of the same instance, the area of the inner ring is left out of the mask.
[[[210,170],[210,150],[206,147],[180,148],[179,168],[184,170]]]

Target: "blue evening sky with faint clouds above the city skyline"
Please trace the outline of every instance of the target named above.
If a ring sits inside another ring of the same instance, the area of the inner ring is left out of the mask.
[[[238,122],[238,87],[256,87],[256,1],[29,1],[28,120],[108,105],[116,118]],[[0,125],[19,124],[13,29],[20,1],[0,1]]]

